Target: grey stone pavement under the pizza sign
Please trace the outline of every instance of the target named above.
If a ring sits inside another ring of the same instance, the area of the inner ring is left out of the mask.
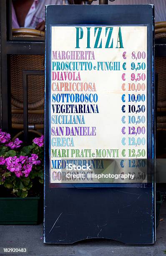
[[[0,249],[27,248],[27,253],[9,255],[43,256],[161,256],[166,255],[166,201],[161,206],[161,218],[154,245],[129,246],[110,240],[87,240],[71,245],[43,244],[43,225],[0,225]]]

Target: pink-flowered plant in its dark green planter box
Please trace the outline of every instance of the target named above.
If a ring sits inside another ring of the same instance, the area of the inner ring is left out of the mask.
[[[37,224],[42,218],[43,136],[22,146],[0,130],[0,224]]]

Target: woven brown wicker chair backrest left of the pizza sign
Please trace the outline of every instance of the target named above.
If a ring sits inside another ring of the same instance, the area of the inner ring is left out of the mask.
[[[10,55],[11,102],[23,108],[23,70],[44,70],[44,55]],[[44,104],[44,76],[28,75],[28,108]]]

